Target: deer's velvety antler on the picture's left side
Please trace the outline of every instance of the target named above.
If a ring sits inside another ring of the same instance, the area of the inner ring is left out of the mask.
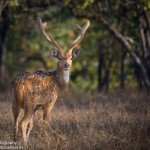
[[[55,48],[57,48],[57,50],[61,51],[62,48],[57,44],[57,42],[54,40],[54,38],[52,37],[52,35],[47,35],[45,32],[45,27],[46,27],[46,23],[42,23],[42,20],[40,17],[37,17],[37,23],[38,26],[40,28],[40,32],[42,34],[42,36],[49,42],[51,43]]]

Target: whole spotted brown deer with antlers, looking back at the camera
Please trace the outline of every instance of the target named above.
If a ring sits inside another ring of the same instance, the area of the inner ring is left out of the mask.
[[[58,64],[56,70],[51,72],[41,70],[33,73],[22,72],[11,83],[10,95],[14,119],[14,140],[16,141],[18,135],[19,113],[21,109],[24,109],[21,129],[25,145],[33,127],[33,117],[36,110],[43,110],[43,121],[48,123],[58,94],[65,89],[69,82],[72,59],[77,58],[79,55],[79,51],[73,49],[83,39],[90,22],[87,20],[83,27],[77,25],[79,35],[66,51],[63,51],[51,34],[46,34],[46,23],[42,23],[40,17],[37,17],[37,24],[44,39],[55,48],[51,50],[51,55],[58,59]]]

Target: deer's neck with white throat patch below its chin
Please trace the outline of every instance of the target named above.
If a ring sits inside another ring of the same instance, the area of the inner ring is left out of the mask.
[[[56,69],[55,73],[56,80],[58,81],[59,86],[61,87],[61,89],[65,88],[69,82],[70,71]]]

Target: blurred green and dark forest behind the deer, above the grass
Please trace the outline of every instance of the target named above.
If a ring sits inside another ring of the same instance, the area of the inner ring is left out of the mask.
[[[36,23],[47,22],[66,49],[77,37],[75,25],[91,26],[78,46],[70,87],[84,91],[150,88],[150,2],[148,0],[1,0],[0,87],[21,71],[52,70],[52,45]]]

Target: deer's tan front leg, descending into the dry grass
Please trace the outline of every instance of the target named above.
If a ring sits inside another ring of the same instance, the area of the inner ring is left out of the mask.
[[[43,108],[43,121],[45,125],[48,125],[51,110],[57,100],[57,97],[53,97],[50,101],[47,101]]]

